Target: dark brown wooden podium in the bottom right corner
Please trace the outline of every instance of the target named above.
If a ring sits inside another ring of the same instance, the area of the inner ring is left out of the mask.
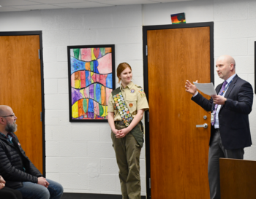
[[[219,158],[222,199],[256,198],[256,161]]]

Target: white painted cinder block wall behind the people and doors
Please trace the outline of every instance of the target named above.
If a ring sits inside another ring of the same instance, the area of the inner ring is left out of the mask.
[[[121,193],[108,123],[69,122],[68,45],[116,44],[116,66],[130,63],[134,82],[143,86],[142,26],[170,24],[171,14],[185,12],[187,23],[214,21],[215,58],[232,55],[238,75],[254,87],[255,10],[253,0],[206,0],[0,12],[0,31],[42,30],[47,177],[60,182],[64,192]],[[216,74],[215,84],[220,82]],[[254,145],[246,148],[245,159],[256,160],[256,100],[249,119]],[[146,195],[144,148],[140,168]]]

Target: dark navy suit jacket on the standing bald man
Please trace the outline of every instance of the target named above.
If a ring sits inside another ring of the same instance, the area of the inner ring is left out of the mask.
[[[218,85],[216,92],[219,93],[222,84]],[[219,110],[219,132],[222,138],[222,145],[225,149],[241,149],[252,145],[252,138],[249,128],[249,113],[252,111],[253,91],[252,85],[236,75],[225,93],[227,101]],[[206,99],[198,93],[192,97],[203,109],[210,112],[214,108],[212,98]],[[211,125],[211,140],[214,133],[214,126]]]

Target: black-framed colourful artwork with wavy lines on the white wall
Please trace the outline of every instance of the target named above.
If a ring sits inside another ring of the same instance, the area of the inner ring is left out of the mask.
[[[116,88],[115,45],[68,46],[69,121],[107,122]]]

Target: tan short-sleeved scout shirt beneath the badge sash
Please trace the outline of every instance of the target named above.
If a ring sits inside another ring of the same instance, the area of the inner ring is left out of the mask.
[[[120,89],[132,117],[135,117],[138,110],[145,109],[146,111],[149,109],[146,95],[141,87],[138,87],[138,85],[130,82],[127,87],[123,88],[121,86]],[[115,113],[115,121],[121,120],[121,115],[119,114],[118,109],[115,107],[112,94],[110,94],[108,98],[108,112]]]

